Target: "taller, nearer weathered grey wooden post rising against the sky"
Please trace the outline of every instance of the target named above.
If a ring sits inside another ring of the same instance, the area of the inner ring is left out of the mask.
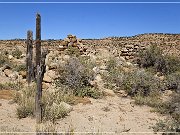
[[[41,123],[42,121],[42,70],[41,70],[41,16],[36,15],[36,81],[37,81],[37,91],[36,91],[36,122]]]

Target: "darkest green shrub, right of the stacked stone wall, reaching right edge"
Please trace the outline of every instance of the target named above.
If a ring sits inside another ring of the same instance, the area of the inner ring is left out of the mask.
[[[140,51],[138,64],[144,68],[155,69],[156,72],[170,74],[180,70],[180,60],[177,56],[164,55],[155,45]]]

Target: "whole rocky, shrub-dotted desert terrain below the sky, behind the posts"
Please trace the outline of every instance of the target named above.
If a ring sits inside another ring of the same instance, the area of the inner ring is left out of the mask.
[[[42,52],[48,49],[43,120],[53,123],[47,130],[179,132],[180,61],[164,55],[179,56],[179,40],[177,34],[142,34],[42,41]],[[35,41],[33,45],[35,51]],[[0,49],[0,131],[46,131],[35,127],[36,85],[26,81],[26,40],[1,40]],[[141,49],[146,50],[139,63],[131,62]]]

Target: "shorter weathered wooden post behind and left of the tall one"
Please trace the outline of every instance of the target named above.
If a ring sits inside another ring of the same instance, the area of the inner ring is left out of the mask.
[[[26,71],[27,71],[27,77],[26,80],[28,84],[31,83],[33,79],[33,63],[32,63],[32,58],[33,58],[33,32],[32,31],[27,31],[27,52],[26,52]]]

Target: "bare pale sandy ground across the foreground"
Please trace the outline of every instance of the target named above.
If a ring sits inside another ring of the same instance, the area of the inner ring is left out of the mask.
[[[73,106],[66,118],[57,121],[56,130],[75,134],[150,135],[154,134],[150,127],[157,120],[164,119],[160,114],[152,113],[150,107],[134,105],[129,98],[115,96],[90,100],[91,104]],[[0,99],[1,132],[34,132],[35,119],[18,119],[16,107],[16,104],[10,104],[10,100]]]

